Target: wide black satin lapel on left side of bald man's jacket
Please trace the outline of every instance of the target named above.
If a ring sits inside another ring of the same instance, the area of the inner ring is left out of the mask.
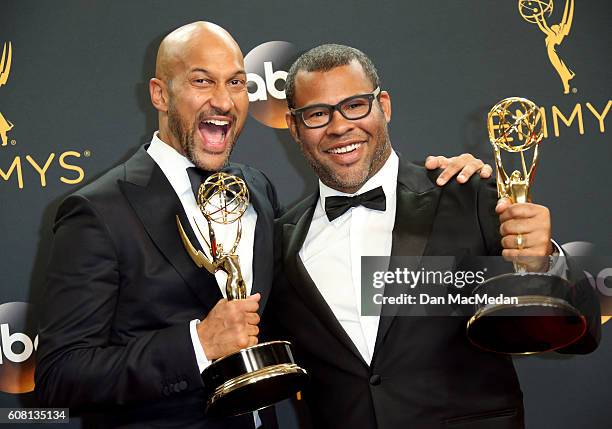
[[[176,215],[194,246],[199,245],[174,189],[144,149],[126,163],[126,178],[119,183],[123,194],[151,240],[205,305],[207,313],[222,298],[221,291],[214,276],[197,268],[183,247]]]

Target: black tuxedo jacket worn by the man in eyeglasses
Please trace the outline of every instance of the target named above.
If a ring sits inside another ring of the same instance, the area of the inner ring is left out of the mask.
[[[436,176],[400,160],[392,256],[501,254],[494,184],[440,188]],[[314,427],[523,427],[511,358],[470,345],[467,318],[382,316],[371,365],[363,360],[298,255],[317,201],[312,195],[277,221],[265,313],[310,373],[304,398]]]

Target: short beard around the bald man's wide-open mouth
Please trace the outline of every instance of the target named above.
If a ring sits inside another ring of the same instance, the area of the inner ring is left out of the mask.
[[[198,151],[197,143],[195,141],[195,134],[199,129],[199,124],[206,118],[207,116],[214,115],[223,115],[230,116],[232,119],[232,126],[228,130],[229,139],[227,142],[227,148],[225,151],[225,159],[222,165],[213,165],[210,159],[207,159],[206,154],[202,151]],[[181,149],[183,150],[183,154],[185,157],[193,163],[196,167],[201,170],[206,171],[219,171],[224,166],[226,166],[229,162],[229,157],[234,150],[234,145],[236,144],[236,139],[238,138],[236,132],[236,117],[234,115],[228,115],[226,112],[221,112],[218,109],[210,109],[206,112],[201,112],[198,115],[196,121],[189,125],[187,121],[183,121],[181,115],[176,110],[174,103],[172,102],[172,98],[170,98],[168,103],[168,128],[170,132],[176,137],[179,144],[181,145]]]

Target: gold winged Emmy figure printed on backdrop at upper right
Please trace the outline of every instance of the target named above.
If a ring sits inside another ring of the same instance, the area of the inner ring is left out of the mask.
[[[553,0],[519,0],[518,6],[523,19],[532,24],[537,24],[538,28],[546,35],[544,41],[548,59],[563,82],[563,93],[569,94],[569,81],[573,79],[575,73],[559,58],[555,46],[560,45],[565,36],[569,35],[574,17],[574,0],[565,1],[561,22],[550,26],[546,22],[546,18],[552,14]]]

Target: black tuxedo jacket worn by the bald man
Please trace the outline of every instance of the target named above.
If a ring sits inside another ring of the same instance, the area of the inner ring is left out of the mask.
[[[266,305],[273,276],[274,188],[230,164],[257,212],[253,293]],[[35,373],[44,406],[94,412],[99,426],[252,428],[251,415],[203,413],[203,383],[189,321],[221,292],[183,248],[175,215],[198,243],[183,207],[145,147],[59,207],[40,315]]]

